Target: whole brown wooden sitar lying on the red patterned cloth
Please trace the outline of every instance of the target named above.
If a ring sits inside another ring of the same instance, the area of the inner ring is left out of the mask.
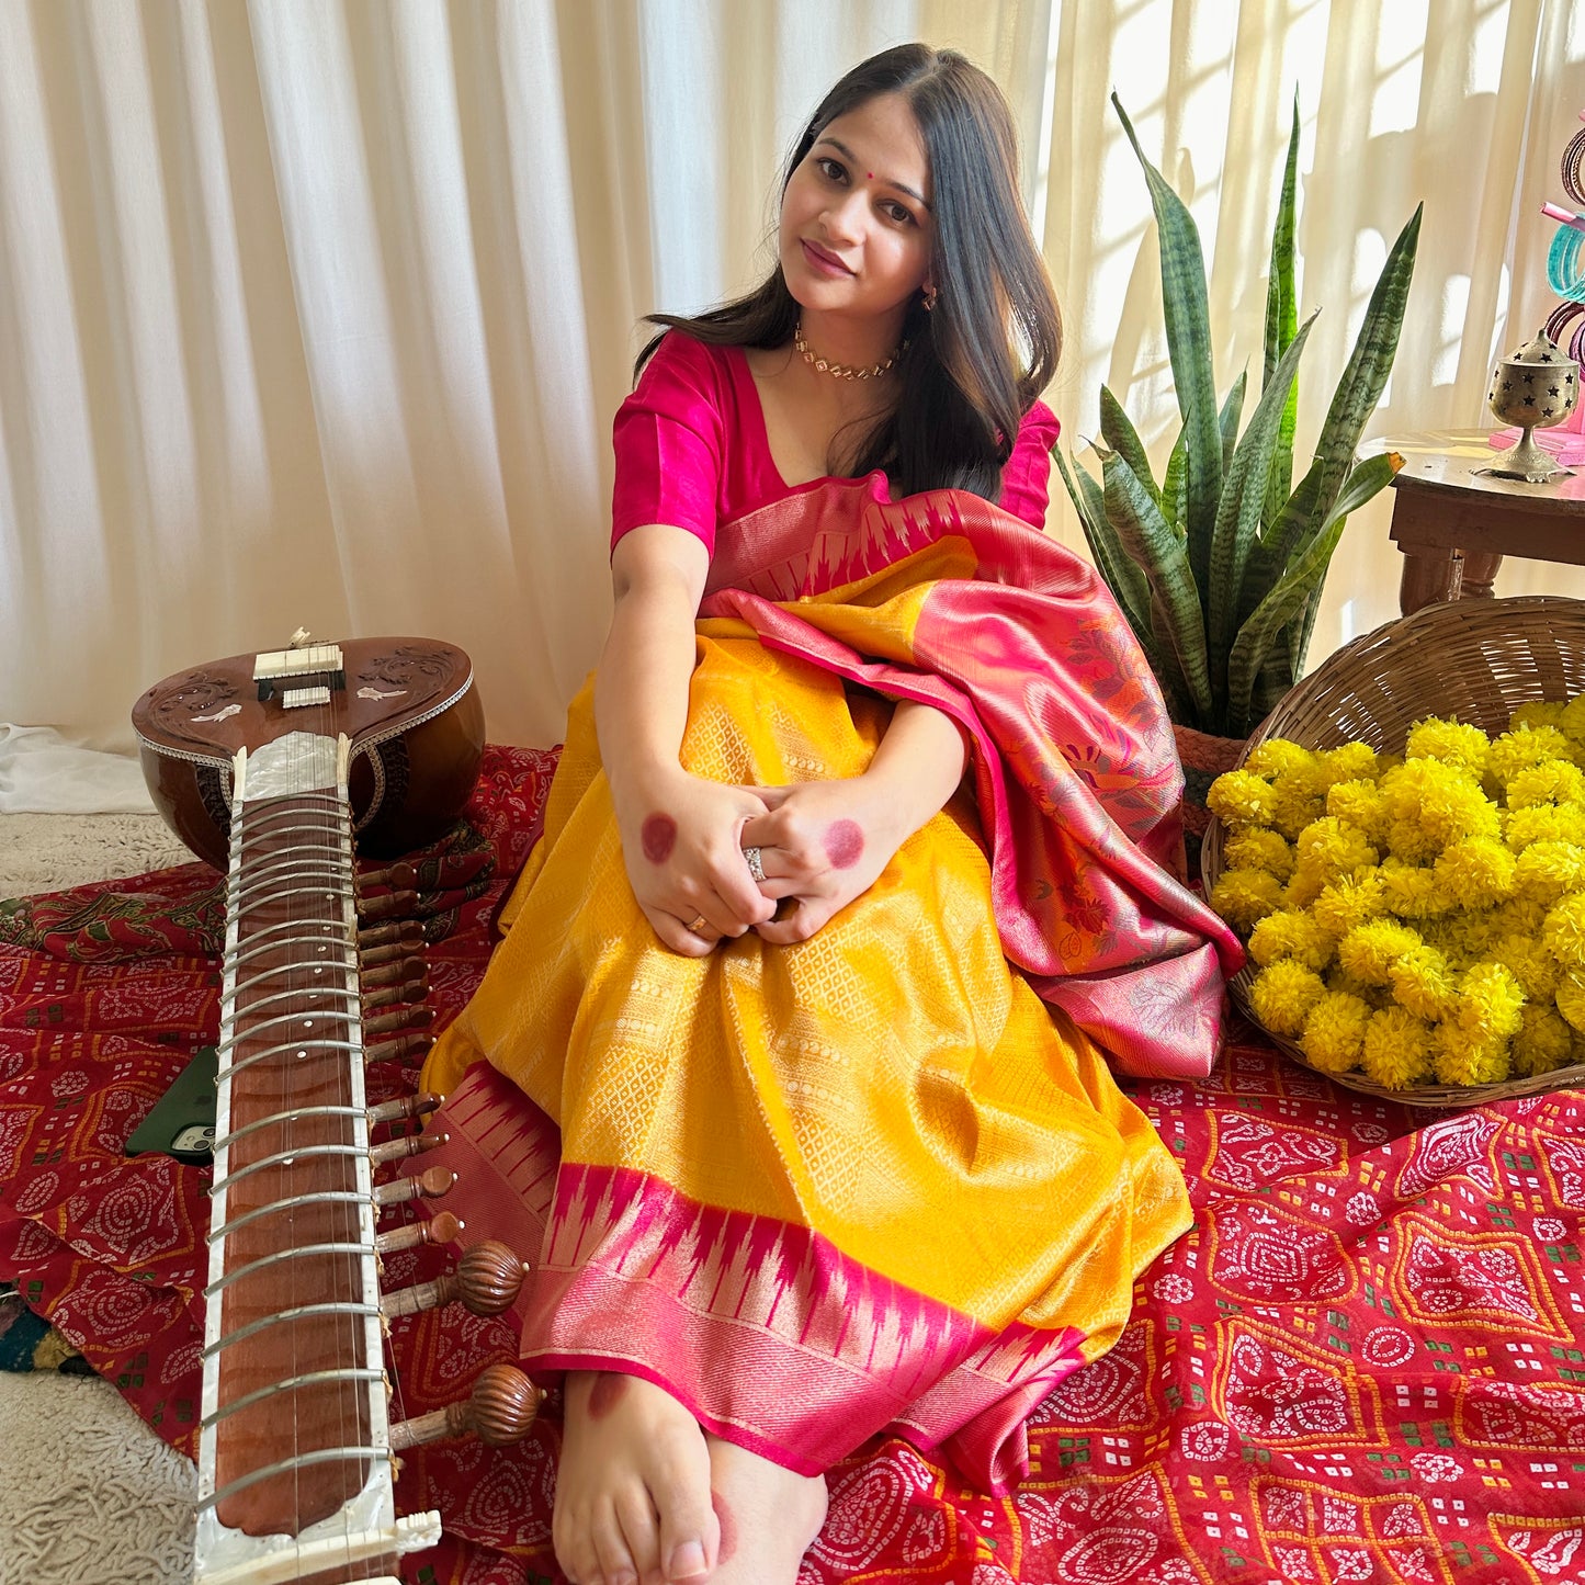
[[[380,1214],[445,1194],[439,1168],[382,1168],[444,1141],[437,1105],[369,1105],[365,1067],[425,1049],[428,991],[415,872],[360,883],[358,853],[439,837],[479,775],[483,710],[468,656],[431,639],[314,644],[179,672],[133,708],[155,807],[225,872],[217,1105],[198,1433],[198,1585],[399,1585],[434,1512],[398,1517],[395,1460],[436,1436],[528,1431],[540,1393],[490,1366],[461,1404],[390,1414],[384,1328],[461,1300],[510,1306],[517,1255],[466,1249],[436,1282],[382,1292],[380,1262],[452,1243],[442,1211],[379,1232]],[[382,1124],[391,1138],[374,1141]]]

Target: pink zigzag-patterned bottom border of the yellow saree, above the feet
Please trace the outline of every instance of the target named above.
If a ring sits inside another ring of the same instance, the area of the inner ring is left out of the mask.
[[[894,1430],[948,1444],[972,1480],[1005,1490],[1027,1466],[1029,1409],[1083,1363],[1071,1327],[997,1333],[810,1228],[699,1205],[634,1168],[558,1165],[556,1127],[488,1064],[430,1129],[447,1143],[411,1168],[456,1171],[447,1209],[469,1241],[501,1238],[531,1266],[514,1316],[536,1374],[642,1376],[800,1474]]]

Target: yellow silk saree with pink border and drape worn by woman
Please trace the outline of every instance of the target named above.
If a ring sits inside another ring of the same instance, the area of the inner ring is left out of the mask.
[[[1117,1090],[1203,1075],[1238,945],[1181,851],[1167,716],[1084,563],[968,495],[821,482],[723,529],[685,766],[853,777],[891,701],[965,786],[813,940],[667,951],[574,702],[510,932],[423,1083],[537,1373],[620,1369],[810,1474],[880,1430],[981,1487],[1189,1225]],[[456,1205],[456,1200],[461,1205]]]

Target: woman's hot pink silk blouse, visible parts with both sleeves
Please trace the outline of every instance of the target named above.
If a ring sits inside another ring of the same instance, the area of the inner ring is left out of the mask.
[[[615,547],[632,528],[672,523],[715,550],[715,533],[807,485],[788,485],[770,456],[766,414],[742,347],[712,347],[669,331],[644,366],[613,425]],[[1003,510],[1035,528],[1046,521],[1046,488],[1057,420],[1045,403],[1024,414],[1002,471]]]

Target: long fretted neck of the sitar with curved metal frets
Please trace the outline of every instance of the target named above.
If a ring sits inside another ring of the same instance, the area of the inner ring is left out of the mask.
[[[390,1579],[349,742],[295,731],[233,772],[197,1572]],[[384,1571],[384,1572],[380,1572]]]

